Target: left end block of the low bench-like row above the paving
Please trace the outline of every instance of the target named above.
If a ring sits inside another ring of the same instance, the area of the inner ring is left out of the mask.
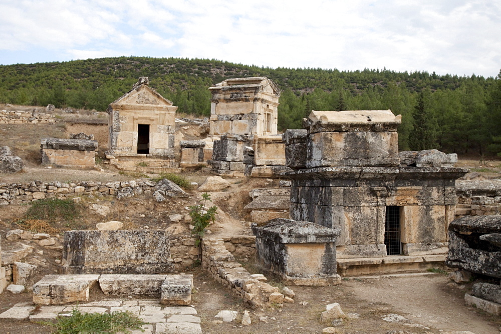
[[[99,275],[45,275],[33,285],[35,304],[66,304],[89,300],[89,288]]]

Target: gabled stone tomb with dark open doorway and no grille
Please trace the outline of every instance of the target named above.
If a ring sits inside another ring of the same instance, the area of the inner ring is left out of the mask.
[[[148,86],[148,77],[139,77],[129,92],[108,107],[110,162],[128,170],[136,170],[141,163],[143,168],[177,171],[172,169],[179,167],[174,150],[176,109]]]

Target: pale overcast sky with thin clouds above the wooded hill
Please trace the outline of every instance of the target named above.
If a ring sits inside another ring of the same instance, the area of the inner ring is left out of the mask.
[[[499,0],[0,0],[0,64],[120,55],[496,76]]]

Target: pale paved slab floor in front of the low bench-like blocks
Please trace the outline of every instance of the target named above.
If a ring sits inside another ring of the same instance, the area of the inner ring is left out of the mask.
[[[201,333],[200,318],[196,309],[191,306],[166,306],[159,300],[124,300],[105,299],[73,305],[50,305],[36,307],[31,302],[20,302],[0,314],[2,319],[34,321],[55,319],[58,315],[70,315],[73,308],[82,312],[109,313],[114,311],[131,311],[139,315],[148,324],[143,325],[144,331],[138,333]]]

